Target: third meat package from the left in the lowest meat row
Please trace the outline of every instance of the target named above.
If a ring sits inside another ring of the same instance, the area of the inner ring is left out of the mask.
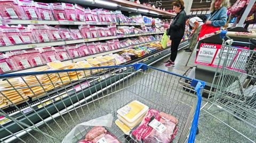
[[[43,56],[36,49],[26,49],[25,52],[27,53],[27,60],[31,63],[31,66],[34,67],[46,64]]]

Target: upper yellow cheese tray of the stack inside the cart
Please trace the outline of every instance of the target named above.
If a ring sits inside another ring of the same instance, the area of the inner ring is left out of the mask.
[[[134,100],[133,102],[117,110],[117,113],[127,122],[134,123],[147,111],[148,106],[137,100]]]

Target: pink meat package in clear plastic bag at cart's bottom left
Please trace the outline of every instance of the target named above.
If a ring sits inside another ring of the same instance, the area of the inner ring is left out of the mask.
[[[104,127],[95,126],[86,133],[85,139],[78,141],[78,143],[96,143],[96,142],[111,142],[121,143],[117,137],[108,132]]]

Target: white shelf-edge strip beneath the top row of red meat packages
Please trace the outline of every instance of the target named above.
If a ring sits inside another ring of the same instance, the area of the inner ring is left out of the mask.
[[[130,22],[86,22],[86,21],[69,21],[69,20],[21,20],[21,19],[8,19],[1,20],[0,23],[3,24],[47,24],[47,25],[95,25],[95,26],[108,26],[116,24],[118,26],[151,26],[151,23],[130,23]]]

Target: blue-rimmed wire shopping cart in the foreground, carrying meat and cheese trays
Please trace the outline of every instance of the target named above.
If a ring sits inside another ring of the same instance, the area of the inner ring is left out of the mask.
[[[68,75],[69,81],[60,78],[63,73]],[[60,80],[53,81],[53,75]],[[25,80],[28,76],[36,79],[34,85]],[[42,83],[42,76],[49,82]],[[0,110],[0,115],[7,121],[0,124],[2,142],[61,142],[79,123],[107,114],[112,114],[115,121],[117,110],[133,100],[177,117],[178,133],[173,142],[195,140],[203,81],[145,64],[5,74],[0,78],[10,85],[0,91],[10,104]],[[17,86],[13,78],[22,81],[23,86]],[[196,95],[182,90],[180,78],[191,80]],[[53,89],[46,91],[45,87],[49,85]],[[35,94],[38,88],[42,88],[42,92]],[[21,89],[33,92],[29,100],[19,94],[24,99],[21,105],[13,103],[4,94],[6,90],[20,92]],[[10,112],[9,108],[16,110],[17,114]],[[133,142],[114,122],[111,128],[106,129],[122,142]],[[85,132],[88,130],[85,129]],[[73,141],[83,138],[84,134],[80,134]]]

